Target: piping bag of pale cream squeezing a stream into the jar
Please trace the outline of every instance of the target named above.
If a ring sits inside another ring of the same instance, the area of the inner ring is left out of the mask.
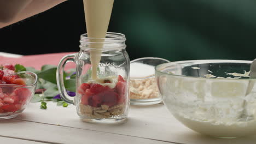
[[[86,29],[89,38],[106,38],[114,0],[84,0]],[[104,39],[91,40],[94,43],[103,43]],[[92,79],[97,79],[97,67],[101,61],[103,44],[91,44]]]

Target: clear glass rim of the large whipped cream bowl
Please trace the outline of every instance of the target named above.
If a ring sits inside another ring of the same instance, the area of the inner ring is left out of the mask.
[[[165,74],[165,75],[170,75],[170,76],[176,76],[176,77],[187,77],[187,78],[191,78],[191,79],[200,79],[200,80],[209,80],[211,78],[206,78],[206,77],[195,77],[195,76],[184,76],[184,75],[176,75],[176,74],[169,74],[169,73],[164,73],[162,71],[160,71],[160,68],[165,68],[167,66],[171,66],[171,65],[177,65],[177,64],[182,64],[182,63],[191,63],[191,62],[201,62],[199,64],[206,64],[206,63],[247,63],[247,64],[251,64],[252,61],[245,61],[245,60],[229,60],[229,59],[198,59],[198,60],[189,60],[189,61],[176,61],[176,62],[170,62],[170,63],[163,63],[163,64],[159,64],[155,67],[155,73],[160,73],[160,74]],[[211,80],[229,80],[229,81],[248,81],[248,80],[256,80],[256,79],[211,79]]]

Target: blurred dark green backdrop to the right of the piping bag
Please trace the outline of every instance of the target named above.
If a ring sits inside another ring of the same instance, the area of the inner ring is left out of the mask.
[[[135,57],[256,58],[254,0],[115,1],[112,18]]]

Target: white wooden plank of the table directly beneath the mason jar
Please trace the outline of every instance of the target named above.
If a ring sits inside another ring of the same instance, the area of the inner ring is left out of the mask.
[[[61,125],[69,128],[93,130],[109,134],[143,137],[173,143],[200,144],[200,143],[255,143],[256,136],[241,137],[238,139],[217,139],[202,136],[184,127],[179,123],[165,105],[131,106],[129,118],[125,123],[106,125],[91,124],[80,121],[75,107],[56,106],[56,103],[48,103],[48,110],[40,110],[39,103],[31,103],[22,115],[16,119],[51,125]]]

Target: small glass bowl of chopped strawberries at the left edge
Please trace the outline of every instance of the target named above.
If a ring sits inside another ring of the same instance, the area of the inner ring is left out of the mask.
[[[13,65],[0,65],[0,119],[14,118],[24,111],[36,85],[36,74],[30,71],[15,73]]]

